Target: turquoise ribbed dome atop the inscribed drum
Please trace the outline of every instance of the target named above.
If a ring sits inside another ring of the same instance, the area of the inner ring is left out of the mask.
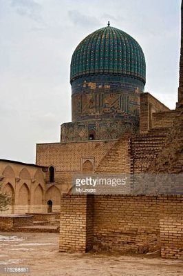
[[[122,30],[107,26],[81,41],[71,61],[71,83],[89,75],[135,77],[145,83],[146,64],[138,42]]]

